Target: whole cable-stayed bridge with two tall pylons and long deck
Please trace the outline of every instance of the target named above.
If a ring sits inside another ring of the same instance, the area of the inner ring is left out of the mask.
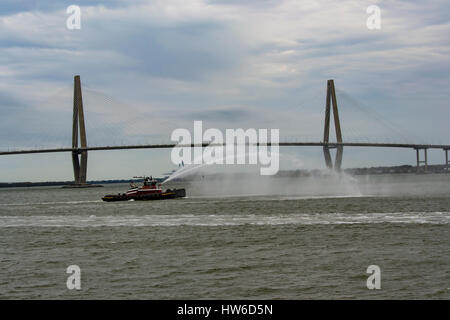
[[[168,149],[174,147],[206,147],[218,146],[217,144],[187,144],[180,145],[174,143],[161,144],[125,144],[125,145],[105,145],[105,146],[89,146],[87,144],[85,118],[83,109],[83,98],[81,92],[80,76],[74,77],[74,93],[73,93],[73,121],[72,121],[72,146],[65,148],[35,148],[22,150],[0,151],[0,155],[18,155],[18,154],[37,154],[37,153],[58,153],[70,152],[72,154],[72,164],[74,169],[74,185],[86,185],[87,179],[87,155],[88,151],[102,150],[129,150],[129,149]],[[330,120],[333,113],[333,122],[335,127],[336,142],[330,141]],[[256,143],[259,146],[258,143]],[[264,145],[272,146],[271,142]],[[342,137],[341,123],[339,119],[339,111],[336,98],[336,90],[333,80],[327,82],[327,94],[325,104],[325,121],[322,141],[283,141],[277,143],[280,147],[322,147],[325,164],[328,168],[339,171],[342,165],[342,156],[344,147],[378,147],[378,148],[407,148],[416,151],[417,172],[426,172],[428,166],[428,149],[441,149],[444,151],[446,172],[449,172],[448,150],[450,145],[446,144],[424,144],[424,143],[377,143],[377,142],[345,142]],[[336,149],[336,157],[333,164],[330,149]],[[421,158],[421,152],[423,158]],[[423,164],[423,166],[421,166]]]

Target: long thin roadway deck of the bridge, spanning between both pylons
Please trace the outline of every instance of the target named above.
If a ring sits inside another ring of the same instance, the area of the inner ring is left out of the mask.
[[[224,146],[225,144],[208,144],[203,143],[202,147],[207,146]],[[248,143],[246,145],[249,145]],[[260,144],[257,143],[256,146]],[[267,143],[271,146],[271,143]],[[364,143],[364,142],[343,142],[343,143],[324,143],[324,142],[280,142],[280,147],[379,147],[379,148],[410,148],[415,150],[421,149],[442,149],[450,150],[450,145],[443,144],[408,144],[408,143]],[[199,144],[144,144],[144,145],[125,145],[125,146],[100,146],[100,147],[78,147],[78,148],[53,148],[53,149],[29,149],[29,150],[8,150],[0,151],[0,156],[14,154],[30,154],[30,153],[53,153],[53,152],[77,152],[83,151],[101,151],[101,150],[128,150],[128,149],[169,149],[174,147],[200,147]]]

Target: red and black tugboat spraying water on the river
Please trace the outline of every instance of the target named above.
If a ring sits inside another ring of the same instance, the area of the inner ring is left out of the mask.
[[[133,182],[126,193],[107,194],[102,198],[103,201],[128,201],[128,200],[164,200],[186,197],[185,189],[167,189],[162,190],[161,184],[152,177],[144,177],[144,184],[137,186]]]

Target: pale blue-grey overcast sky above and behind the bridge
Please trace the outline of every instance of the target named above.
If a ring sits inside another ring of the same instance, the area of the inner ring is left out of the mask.
[[[450,144],[449,35],[445,0],[2,0],[0,150],[71,145],[74,75],[93,146],[170,142],[194,120],[321,141],[328,79],[345,141]],[[324,166],[320,148],[282,152],[286,168]],[[415,152],[344,151],[344,167],[398,164]],[[170,150],[90,152],[88,179],[173,168]],[[0,156],[0,182],[72,178],[70,154]]]

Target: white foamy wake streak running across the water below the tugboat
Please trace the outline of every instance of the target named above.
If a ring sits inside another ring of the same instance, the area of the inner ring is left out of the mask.
[[[301,213],[280,215],[123,215],[123,216],[0,216],[7,227],[174,227],[241,225],[449,224],[450,212]]]

